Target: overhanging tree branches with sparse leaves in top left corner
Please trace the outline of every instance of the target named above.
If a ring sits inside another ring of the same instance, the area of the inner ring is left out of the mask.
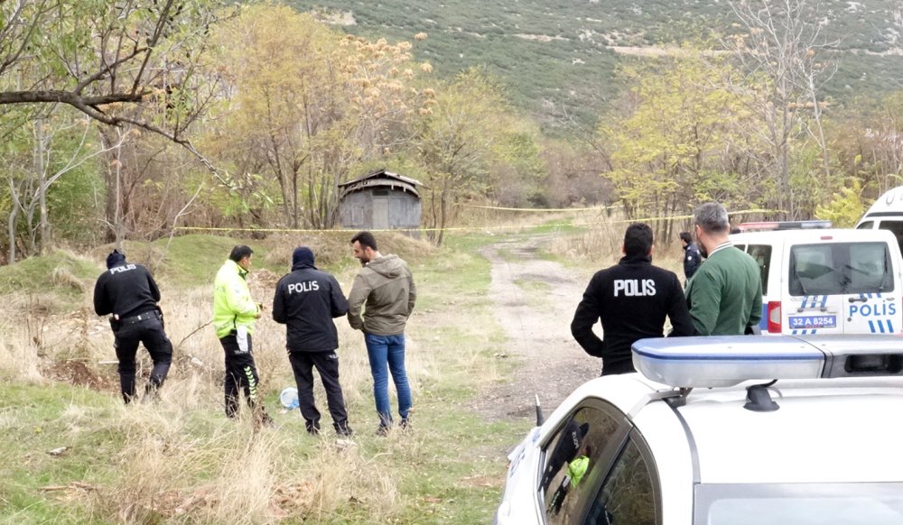
[[[66,104],[102,124],[130,124],[181,144],[219,179],[186,132],[217,84],[202,59],[210,27],[230,13],[223,5],[0,1],[0,106]]]

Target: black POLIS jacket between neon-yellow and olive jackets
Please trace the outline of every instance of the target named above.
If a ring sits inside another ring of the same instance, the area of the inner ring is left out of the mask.
[[[273,320],[286,325],[289,352],[328,352],[339,347],[332,318],[348,313],[339,281],[313,267],[294,269],[276,284]]]

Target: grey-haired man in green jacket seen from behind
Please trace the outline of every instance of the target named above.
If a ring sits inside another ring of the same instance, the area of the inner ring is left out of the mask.
[[[749,253],[728,239],[728,212],[706,202],[694,212],[696,238],[706,260],[687,282],[686,301],[697,336],[742,336],[762,318],[762,276]]]

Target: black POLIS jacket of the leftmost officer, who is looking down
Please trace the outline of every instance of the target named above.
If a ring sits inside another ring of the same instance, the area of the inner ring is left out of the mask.
[[[157,309],[160,290],[141,264],[125,263],[103,272],[94,285],[94,311],[130,318]]]

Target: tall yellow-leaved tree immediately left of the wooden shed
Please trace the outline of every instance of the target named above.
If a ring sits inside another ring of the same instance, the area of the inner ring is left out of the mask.
[[[273,181],[289,226],[332,226],[338,184],[406,147],[428,97],[411,85],[408,42],[346,37],[288,7],[247,6],[214,38],[226,93],[206,144],[235,177],[258,175],[257,190]]]

